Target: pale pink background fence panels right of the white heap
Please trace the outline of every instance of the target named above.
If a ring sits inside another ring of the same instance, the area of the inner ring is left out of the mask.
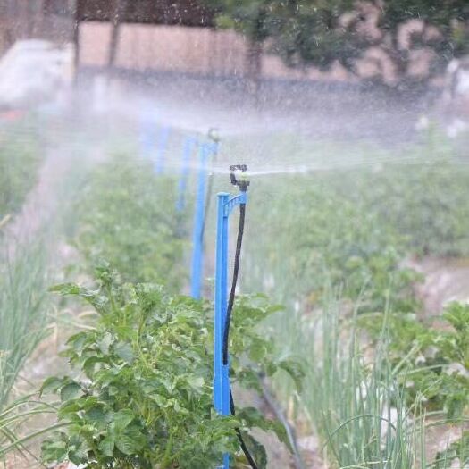
[[[80,64],[104,67],[111,42],[111,25],[80,24]],[[172,71],[203,76],[238,76],[248,73],[247,40],[232,30],[145,24],[122,24],[115,66],[133,71]],[[264,78],[347,80],[339,64],[331,71],[291,70],[271,54],[262,56]]]

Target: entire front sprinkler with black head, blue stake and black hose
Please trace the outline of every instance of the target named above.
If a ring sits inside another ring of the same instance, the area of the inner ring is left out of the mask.
[[[230,166],[231,184],[239,187],[239,195],[230,196],[227,192],[218,194],[217,232],[216,232],[216,267],[215,267],[215,301],[214,301],[214,408],[220,415],[235,415],[234,400],[230,387],[230,322],[239,275],[239,260],[244,233],[244,222],[247,205],[247,164]],[[230,214],[239,205],[239,228],[236,242],[233,278],[230,297],[228,294],[228,224]],[[255,460],[249,454],[241,431],[236,429],[239,444],[249,465],[257,468]],[[219,469],[229,469],[230,455],[223,455]]]

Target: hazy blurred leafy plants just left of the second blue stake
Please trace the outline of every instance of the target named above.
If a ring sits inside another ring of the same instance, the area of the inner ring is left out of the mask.
[[[108,260],[126,281],[150,281],[178,291],[185,214],[176,214],[176,184],[155,175],[149,161],[113,155],[92,173],[78,203],[76,245],[88,267]]]

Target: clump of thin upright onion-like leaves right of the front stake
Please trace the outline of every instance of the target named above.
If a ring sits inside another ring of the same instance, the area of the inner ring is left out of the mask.
[[[304,389],[285,388],[284,378],[276,388],[280,397],[296,397],[297,415],[320,437],[328,467],[423,469],[415,463],[422,451],[423,426],[413,420],[419,401],[407,403],[398,366],[388,360],[389,325],[370,349],[356,314],[343,314],[338,297],[324,299],[314,318],[290,316],[283,317],[289,335],[278,340],[307,356]]]

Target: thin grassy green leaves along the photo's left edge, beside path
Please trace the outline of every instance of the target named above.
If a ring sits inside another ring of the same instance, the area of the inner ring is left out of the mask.
[[[6,251],[6,247],[4,247]],[[16,450],[31,457],[27,443],[45,429],[30,431],[30,420],[53,412],[34,394],[16,387],[28,382],[28,358],[46,336],[46,253],[40,242],[15,246],[13,259],[4,253],[0,267],[0,458]],[[21,386],[24,388],[24,386]],[[33,456],[34,458],[34,456]],[[4,463],[5,464],[5,463]]]

